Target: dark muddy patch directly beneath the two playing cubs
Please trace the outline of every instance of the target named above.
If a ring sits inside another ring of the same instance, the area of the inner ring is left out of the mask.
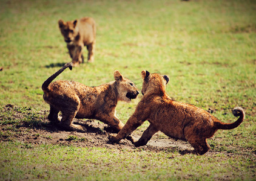
[[[18,135],[8,136],[6,139],[12,139],[28,144],[61,144],[74,145],[77,147],[102,147],[125,150],[177,150],[180,151],[180,153],[189,153],[193,150],[187,142],[175,141],[168,138],[158,138],[158,136],[163,137],[161,133],[154,135],[146,146],[140,148],[134,147],[134,145],[127,139],[120,141],[118,144],[113,144],[108,139],[109,134],[113,133],[112,129],[106,124],[95,120],[75,120],[75,124],[81,124],[86,127],[86,133],[66,132],[51,125],[47,120],[42,121],[45,123],[44,126],[32,129],[24,125],[16,130]],[[0,130],[3,132],[5,130],[4,126],[1,126]],[[138,140],[140,135],[138,133],[133,133],[135,140]]]

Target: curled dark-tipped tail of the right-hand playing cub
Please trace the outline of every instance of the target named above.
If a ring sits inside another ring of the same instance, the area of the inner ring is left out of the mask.
[[[237,121],[235,121],[233,123],[224,123],[224,122],[221,122],[221,121],[220,122],[214,122],[215,128],[216,129],[221,129],[221,130],[231,130],[231,129],[234,129],[234,128],[238,127],[238,125],[240,125],[241,122],[243,122],[243,119],[244,119],[244,116],[245,116],[244,110],[241,107],[235,107],[232,110],[232,113],[236,117],[239,116]]]

